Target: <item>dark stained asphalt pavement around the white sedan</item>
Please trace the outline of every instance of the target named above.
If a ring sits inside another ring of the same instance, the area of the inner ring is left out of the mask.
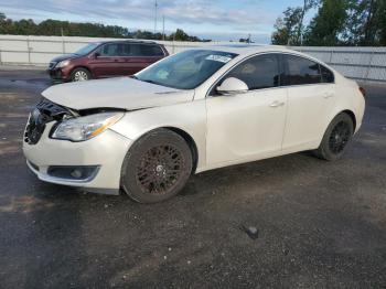
[[[167,202],[41,182],[22,156],[43,71],[0,69],[0,288],[386,288],[386,86],[336,162],[195,175]]]

